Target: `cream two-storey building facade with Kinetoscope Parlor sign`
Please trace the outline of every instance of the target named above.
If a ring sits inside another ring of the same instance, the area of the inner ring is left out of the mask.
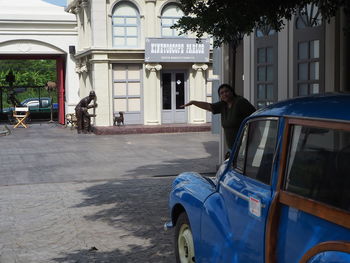
[[[78,23],[79,96],[97,95],[96,126],[203,124],[211,116],[189,100],[211,101],[212,54],[208,39],[179,36],[171,26],[183,15],[167,0],[71,0]]]

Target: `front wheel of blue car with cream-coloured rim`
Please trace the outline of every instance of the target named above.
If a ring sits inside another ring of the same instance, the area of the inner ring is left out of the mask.
[[[178,263],[195,262],[192,230],[185,212],[180,214],[175,226],[175,255]]]

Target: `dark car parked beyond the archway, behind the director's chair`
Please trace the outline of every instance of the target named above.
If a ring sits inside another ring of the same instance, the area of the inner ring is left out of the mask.
[[[51,114],[51,98],[41,97],[39,98],[27,98],[21,102],[22,107],[28,107],[31,119],[50,118]],[[57,116],[58,103],[52,104],[53,115]],[[12,117],[13,107],[4,108],[3,113],[7,114],[9,118]]]

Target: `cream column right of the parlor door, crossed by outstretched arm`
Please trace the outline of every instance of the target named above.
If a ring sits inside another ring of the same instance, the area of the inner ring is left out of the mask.
[[[208,69],[207,64],[193,64],[192,69],[194,86],[190,90],[189,100],[206,101],[207,91],[205,86],[205,71]],[[198,107],[191,106],[189,109],[190,123],[206,123],[206,111]]]

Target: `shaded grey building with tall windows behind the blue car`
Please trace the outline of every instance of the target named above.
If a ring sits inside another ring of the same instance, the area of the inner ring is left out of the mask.
[[[304,11],[286,21],[281,32],[257,28],[236,52],[225,49],[224,57],[232,62],[224,77],[257,108],[298,96],[350,90],[344,13],[339,10],[327,22],[314,4]]]

